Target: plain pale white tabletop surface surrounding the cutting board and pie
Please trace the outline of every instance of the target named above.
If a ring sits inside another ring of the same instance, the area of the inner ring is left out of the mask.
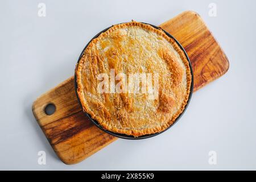
[[[38,3],[46,3],[46,17]],[[208,5],[217,5],[217,17]],[[1,1],[0,169],[256,169],[256,1]],[[119,139],[67,166],[32,115],[36,97],[73,75],[85,44],[111,24],[158,25],[199,13],[230,61],[225,76],[193,94],[174,127],[145,140]],[[46,151],[46,165],[38,151]],[[208,152],[217,152],[217,165]]]

